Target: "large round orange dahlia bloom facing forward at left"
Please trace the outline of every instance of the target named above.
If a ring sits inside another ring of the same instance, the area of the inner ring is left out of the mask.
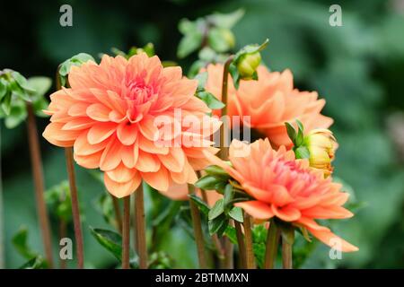
[[[73,146],[84,168],[104,171],[114,196],[130,195],[142,178],[161,191],[194,183],[194,170],[207,163],[204,151],[215,152],[206,138],[221,123],[206,116],[210,109],[194,96],[198,82],[178,66],[164,68],[145,53],[104,56],[100,65],[73,66],[68,81],[71,88],[50,96],[43,136]],[[194,122],[184,121],[189,115]]]

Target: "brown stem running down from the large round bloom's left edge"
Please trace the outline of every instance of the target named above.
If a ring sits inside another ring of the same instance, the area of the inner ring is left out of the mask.
[[[75,229],[75,251],[77,256],[77,268],[84,267],[84,252],[83,252],[83,232],[82,222],[80,221],[80,207],[78,202],[77,187],[75,184],[75,163],[73,160],[73,148],[65,148],[66,168],[69,177],[70,195],[72,199],[72,215],[73,225]]]

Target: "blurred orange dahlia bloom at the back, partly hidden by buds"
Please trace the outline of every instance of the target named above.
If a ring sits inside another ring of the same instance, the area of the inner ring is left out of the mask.
[[[206,91],[220,100],[222,92],[223,65],[208,65]],[[293,75],[289,70],[282,73],[269,72],[265,66],[257,69],[258,81],[241,81],[239,90],[229,81],[229,116],[250,116],[250,123],[244,122],[266,135],[275,146],[292,146],[287,136],[285,122],[299,119],[306,131],[313,128],[327,128],[333,120],[321,115],[325,100],[318,100],[316,91],[294,89]],[[215,110],[220,116],[220,110]]]

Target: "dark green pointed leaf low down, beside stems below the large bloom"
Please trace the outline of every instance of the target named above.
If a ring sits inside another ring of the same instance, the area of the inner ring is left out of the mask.
[[[122,237],[119,233],[111,230],[102,230],[90,226],[92,236],[97,239],[103,248],[106,248],[116,257],[119,262],[122,260]],[[137,256],[132,249],[129,250],[130,263],[132,267],[137,265]]]

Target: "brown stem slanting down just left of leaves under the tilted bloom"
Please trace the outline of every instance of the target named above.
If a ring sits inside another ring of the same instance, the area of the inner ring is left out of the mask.
[[[188,185],[189,195],[195,191],[195,187]],[[202,224],[200,222],[200,214],[198,206],[189,200],[190,213],[192,217],[192,224],[194,226],[195,241],[197,243],[199,268],[206,269],[206,255],[205,255],[205,240],[202,232]]]

